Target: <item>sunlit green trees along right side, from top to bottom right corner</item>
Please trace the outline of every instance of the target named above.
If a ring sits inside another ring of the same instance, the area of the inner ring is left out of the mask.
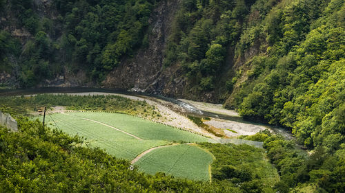
[[[250,69],[242,71],[248,80],[226,105],[244,117],[292,128],[311,150],[308,157],[282,137],[264,140],[282,179],[275,185],[279,192],[345,190],[344,9],[342,0],[282,1],[248,25],[239,42],[239,56],[256,41],[266,54],[242,68]]]

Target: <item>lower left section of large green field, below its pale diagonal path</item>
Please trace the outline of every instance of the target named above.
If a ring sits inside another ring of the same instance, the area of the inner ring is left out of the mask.
[[[99,115],[99,113],[95,114]],[[111,115],[111,117],[117,116],[115,113],[111,113]],[[39,118],[39,120],[43,120],[43,117]],[[59,113],[47,115],[46,123],[51,127],[61,129],[63,132],[68,133],[71,136],[78,135],[85,138],[86,144],[89,144],[92,147],[99,147],[106,150],[110,155],[128,160],[134,159],[141,152],[144,152],[144,150],[169,143],[169,141],[164,139],[138,140],[135,137],[122,133],[114,128],[89,120],[84,120],[81,117]],[[126,124],[130,124],[130,122],[126,122]]]

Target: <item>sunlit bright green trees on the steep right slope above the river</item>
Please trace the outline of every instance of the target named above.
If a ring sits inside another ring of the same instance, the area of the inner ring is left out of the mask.
[[[254,41],[267,41],[266,54],[247,64],[248,80],[228,106],[237,106],[245,117],[293,128],[308,148],[339,148],[345,135],[344,9],[341,0],[283,1],[248,27],[237,54]]]

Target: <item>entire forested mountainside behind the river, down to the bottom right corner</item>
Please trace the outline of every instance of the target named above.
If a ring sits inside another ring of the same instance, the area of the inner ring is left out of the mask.
[[[0,88],[219,102],[308,150],[259,136],[276,190],[344,192],[344,28],[344,0],[0,0]]]

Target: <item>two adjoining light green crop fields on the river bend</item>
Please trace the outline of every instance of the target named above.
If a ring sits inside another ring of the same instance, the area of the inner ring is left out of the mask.
[[[43,120],[43,117],[39,117]],[[75,112],[46,115],[46,123],[70,135],[86,138],[115,157],[132,160],[141,152],[174,141],[210,141],[206,137],[139,117],[118,113]],[[135,165],[149,174],[166,172],[175,177],[207,181],[212,156],[196,146],[177,145],[148,152]]]

